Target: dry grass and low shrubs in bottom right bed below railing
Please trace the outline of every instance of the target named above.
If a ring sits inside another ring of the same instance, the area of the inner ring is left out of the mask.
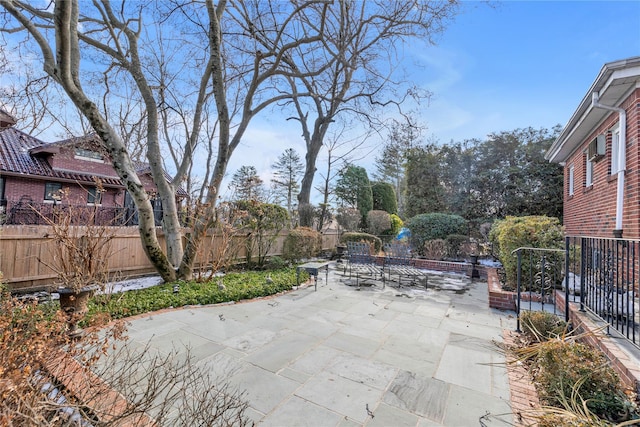
[[[533,379],[543,407],[530,415],[539,426],[599,427],[640,422],[636,396],[625,394],[601,352],[582,344],[593,333],[570,333],[550,314],[530,315],[523,321],[523,329],[524,325],[527,333],[505,350],[512,356],[511,363],[525,365]]]

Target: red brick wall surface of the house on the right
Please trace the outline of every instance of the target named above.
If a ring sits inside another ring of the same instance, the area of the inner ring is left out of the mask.
[[[623,229],[625,238],[640,237],[640,89],[636,89],[622,104],[627,111],[627,172]],[[611,175],[611,133],[618,123],[618,113],[612,112],[582,143],[565,165],[564,226],[568,235],[613,237],[616,220],[617,176]],[[586,154],[583,152],[597,135],[605,134],[607,149],[604,158],[595,163],[593,186],[585,187]],[[569,195],[569,168],[574,167],[574,195]]]

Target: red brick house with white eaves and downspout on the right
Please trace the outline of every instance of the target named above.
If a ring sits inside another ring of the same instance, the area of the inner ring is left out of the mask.
[[[640,57],[609,62],[546,154],[567,235],[640,238]]]

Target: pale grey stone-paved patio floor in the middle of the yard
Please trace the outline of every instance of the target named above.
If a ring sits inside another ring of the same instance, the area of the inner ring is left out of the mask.
[[[332,269],[317,292],[155,313],[131,321],[129,336],[161,352],[190,347],[201,368],[246,390],[261,426],[511,425],[492,340],[515,319],[489,309],[485,282],[442,277],[430,283],[447,290],[383,290]]]

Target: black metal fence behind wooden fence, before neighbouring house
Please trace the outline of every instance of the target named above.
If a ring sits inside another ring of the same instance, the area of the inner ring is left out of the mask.
[[[65,212],[73,211],[74,225],[133,226],[138,214],[133,207],[69,206],[61,203],[36,203],[30,200],[8,201],[0,211],[0,224],[47,225]],[[162,210],[154,210],[156,226],[161,225]]]

